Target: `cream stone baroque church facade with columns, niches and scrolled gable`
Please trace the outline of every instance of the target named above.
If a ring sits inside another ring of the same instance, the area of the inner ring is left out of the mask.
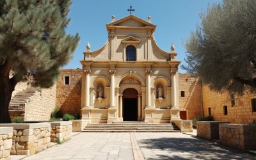
[[[81,119],[89,123],[145,121],[170,123],[179,116],[180,61],[172,45],[161,50],[150,17],[112,17],[108,40],[84,52]]]

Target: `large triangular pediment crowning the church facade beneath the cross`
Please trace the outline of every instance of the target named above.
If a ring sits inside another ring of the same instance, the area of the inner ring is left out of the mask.
[[[146,20],[140,19],[134,15],[128,15],[122,19],[116,20],[108,24],[108,26],[122,26],[122,27],[146,27],[152,26],[156,27],[156,25],[151,22],[147,22]]]

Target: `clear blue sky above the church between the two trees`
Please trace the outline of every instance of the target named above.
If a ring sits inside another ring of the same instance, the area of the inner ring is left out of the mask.
[[[81,68],[86,44],[90,42],[91,51],[102,47],[108,38],[106,24],[111,16],[116,20],[129,15],[129,6],[135,9],[132,14],[147,20],[150,15],[152,23],[157,25],[155,38],[157,45],[170,52],[173,42],[178,60],[184,64],[186,49],[183,42],[200,25],[199,13],[205,11],[208,4],[220,3],[221,0],[73,0],[69,17],[71,22],[67,33],[79,33],[81,40],[73,59],[63,68]],[[179,68],[179,72],[185,72]]]

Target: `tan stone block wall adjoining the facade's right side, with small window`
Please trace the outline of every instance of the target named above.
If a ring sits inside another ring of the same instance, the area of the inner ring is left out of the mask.
[[[180,96],[180,91],[185,92],[185,97]],[[179,74],[179,106],[180,111],[187,111],[187,120],[202,116],[201,85],[198,77]]]

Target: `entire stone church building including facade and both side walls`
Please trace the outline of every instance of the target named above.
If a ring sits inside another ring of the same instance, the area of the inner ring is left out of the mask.
[[[82,68],[60,69],[60,79],[52,88],[17,84],[10,115],[49,120],[58,108],[88,123],[170,123],[202,115],[238,124],[256,119],[256,95],[230,102],[227,93],[212,92],[198,77],[180,74],[174,45],[170,51],[159,48],[150,17],[115,20],[113,16],[106,30],[106,44],[97,51],[90,51],[87,44]]]

